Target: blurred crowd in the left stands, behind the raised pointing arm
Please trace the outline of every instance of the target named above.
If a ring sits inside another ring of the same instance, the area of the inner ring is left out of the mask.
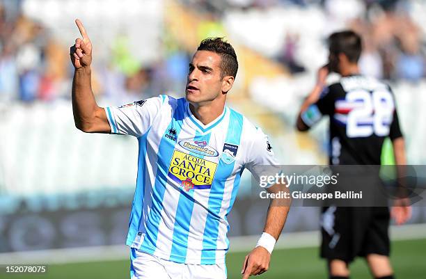
[[[0,104],[70,99],[74,72],[70,46],[58,42],[47,26],[24,15],[22,2],[0,0]],[[108,46],[109,60],[97,56],[93,62],[95,95],[118,105],[184,89],[186,51],[165,38],[164,58],[143,64],[130,53],[127,39],[119,37]]]

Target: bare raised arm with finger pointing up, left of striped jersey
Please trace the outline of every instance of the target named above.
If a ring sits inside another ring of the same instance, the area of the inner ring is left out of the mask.
[[[92,42],[79,19],[75,20],[81,38],[70,48],[70,58],[74,65],[72,79],[72,113],[75,127],[87,133],[110,133],[111,128],[104,109],[97,106],[91,85]]]

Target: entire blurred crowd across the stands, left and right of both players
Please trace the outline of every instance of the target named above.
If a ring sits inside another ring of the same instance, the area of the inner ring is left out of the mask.
[[[265,9],[276,6],[317,6],[329,22],[344,21],[363,36],[361,70],[388,80],[417,82],[425,77],[425,46],[422,31],[409,16],[407,1],[398,0],[181,0],[206,15],[205,29],[221,26],[229,9]],[[22,1],[0,1],[0,102],[45,102],[70,98],[72,65],[68,47],[58,43],[49,29],[26,17]],[[348,8],[349,7],[349,8]],[[221,27],[223,28],[223,26]],[[207,31],[206,31],[207,32]],[[204,33],[206,33],[204,32]],[[208,33],[208,32],[207,32]],[[290,73],[306,71],[297,59],[299,38],[289,32],[274,59]],[[93,90],[113,99],[113,104],[132,102],[159,93],[181,92],[190,55],[164,35],[164,58],[141,65],[125,44],[110,47],[110,61],[94,65]],[[325,36],[324,36],[325,38]],[[119,40],[123,42],[125,40]]]

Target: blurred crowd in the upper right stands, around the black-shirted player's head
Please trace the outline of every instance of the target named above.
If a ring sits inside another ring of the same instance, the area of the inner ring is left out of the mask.
[[[419,26],[411,19],[410,1],[400,0],[182,0],[218,16],[227,10],[265,10],[274,7],[320,7],[331,26],[348,26],[364,40],[363,73],[379,79],[417,82],[425,77],[425,46]],[[307,22],[307,24],[309,24]],[[288,32],[276,59],[291,73],[304,72],[297,48],[303,34]],[[324,38],[326,34],[324,34]]]

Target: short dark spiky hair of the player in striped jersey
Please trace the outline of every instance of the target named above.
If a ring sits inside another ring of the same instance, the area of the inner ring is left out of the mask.
[[[200,42],[198,50],[212,51],[221,56],[221,76],[232,76],[235,79],[238,70],[237,54],[229,42],[223,38],[207,38]]]

